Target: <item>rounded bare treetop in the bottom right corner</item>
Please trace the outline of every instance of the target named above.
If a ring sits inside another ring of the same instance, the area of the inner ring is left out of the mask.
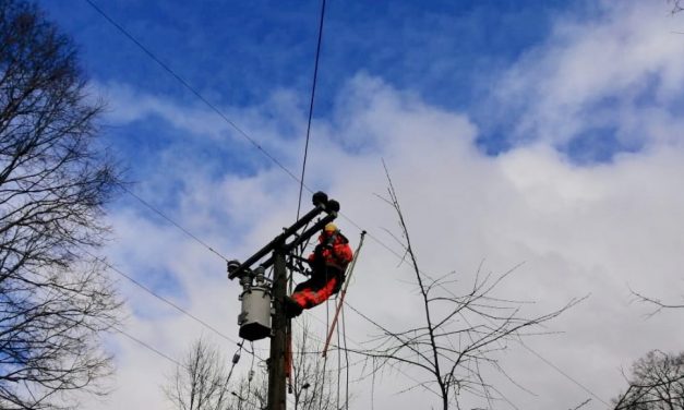
[[[684,410],[684,352],[648,352],[632,365],[628,383],[614,410]]]

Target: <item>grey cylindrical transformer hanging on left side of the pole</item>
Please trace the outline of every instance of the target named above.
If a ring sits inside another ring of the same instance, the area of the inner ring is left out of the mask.
[[[250,341],[271,335],[271,286],[262,267],[240,277],[242,311],[238,315],[239,335]]]

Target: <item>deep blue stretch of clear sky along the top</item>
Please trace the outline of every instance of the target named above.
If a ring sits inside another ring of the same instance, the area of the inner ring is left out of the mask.
[[[41,5],[74,36],[94,80],[197,102],[87,2]],[[118,1],[98,7],[213,104],[259,105],[275,89],[288,89],[299,97],[299,109],[307,107],[320,2]],[[333,1],[316,116],[328,116],[346,81],[364,72],[429,104],[469,109],[484,130],[482,149],[499,153],[511,142],[502,134],[506,124],[497,124],[483,101],[490,88],[548,36],[553,19],[564,13],[581,17],[588,8],[581,1]]]

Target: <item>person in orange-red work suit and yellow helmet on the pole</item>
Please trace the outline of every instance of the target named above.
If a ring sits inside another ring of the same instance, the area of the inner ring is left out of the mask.
[[[319,236],[319,244],[309,255],[311,278],[299,284],[295,292],[286,298],[288,317],[299,316],[302,310],[325,302],[341,288],[345,269],[352,260],[349,240],[339,232],[335,224],[328,224]]]

